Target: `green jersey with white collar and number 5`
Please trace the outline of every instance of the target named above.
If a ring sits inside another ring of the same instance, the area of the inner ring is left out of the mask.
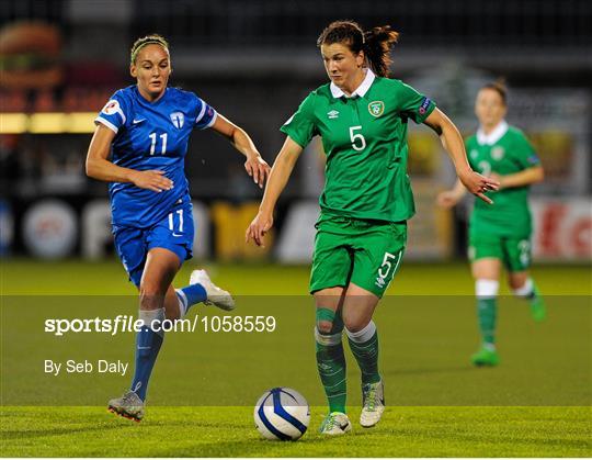
[[[334,83],[312,91],[282,126],[303,148],[320,135],[327,166],[323,213],[399,222],[414,213],[407,176],[407,123],[435,104],[399,80],[367,70],[350,98]]]

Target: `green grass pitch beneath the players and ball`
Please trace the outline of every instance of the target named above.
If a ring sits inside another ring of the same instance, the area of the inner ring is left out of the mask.
[[[192,268],[192,265],[185,265],[178,280],[186,280]],[[249,301],[265,303],[264,299],[276,303],[278,301],[274,299],[292,296],[295,303],[305,303],[304,308],[312,308],[306,296],[307,268],[225,265],[208,269],[220,285],[244,296],[246,304]],[[337,439],[321,438],[317,434],[325,414],[322,390],[315,374],[310,339],[300,337],[310,334],[311,311],[304,315],[292,311],[280,315],[281,319],[285,318],[280,322],[285,337],[277,341],[277,350],[270,350],[270,356],[281,357],[285,354],[283,347],[300,344],[298,340],[301,340],[303,348],[309,349],[291,356],[291,366],[278,363],[277,369],[269,373],[249,374],[240,364],[230,366],[234,364],[230,358],[235,354],[243,361],[249,357],[246,350],[237,349],[237,344],[242,344],[243,348],[255,350],[258,356],[252,357],[255,367],[263,366],[264,360],[258,360],[263,352],[257,347],[264,350],[265,340],[271,340],[270,337],[216,335],[204,338],[183,334],[171,337],[166,341],[155,369],[146,418],[136,424],[109,414],[102,405],[105,395],[115,395],[123,390],[128,377],[95,380],[101,384],[94,386],[92,379],[52,381],[30,378],[23,362],[26,363],[27,355],[35,356],[38,350],[33,348],[38,347],[22,348],[30,343],[36,344],[34,340],[38,337],[34,335],[43,336],[43,333],[35,329],[31,337],[22,337],[24,323],[19,318],[27,317],[26,308],[16,317],[7,306],[10,302],[2,302],[0,455],[590,457],[590,267],[543,266],[534,269],[534,276],[548,296],[548,322],[534,325],[527,306],[511,298],[500,299],[502,364],[497,369],[473,369],[467,359],[478,337],[474,312],[469,310],[473,281],[466,265],[403,265],[390,287],[389,296],[377,311],[382,332],[380,366],[387,383],[387,412],[375,428],[363,429],[357,425],[358,370],[354,362],[349,361],[352,382],[349,386],[350,415],[354,429],[352,434]],[[13,300],[35,295],[33,299],[39,304],[39,312],[48,308],[53,315],[56,310],[53,310],[52,298],[112,295],[115,299],[134,295],[123,268],[114,261],[3,260],[1,291]],[[502,289],[503,293],[509,293],[508,289]],[[26,302],[31,303],[31,299]],[[463,302],[467,305],[459,305]],[[65,302],[61,308],[67,311],[73,306]],[[237,314],[240,308],[239,304]],[[134,305],[122,313],[134,313]],[[10,325],[18,328],[19,335],[10,330]],[[57,344],[52,337],[42,339]],[[88,337],[71,337],[71,340],[75,348],[89,346]],[[130,338],[119,337],[119,348],[125,354],[133,354]],[[12,345],[14,341],[18,341],[18,347]],[[41,348],[43,344],[39,341]],[[104,352],[122,352],[112,350],[117,347],[110,343]],[[213,349],[229,356],[229,360],[208,360],[216,352]],[[19,360],[11,359],[13,350],[22,352]],[[196,360],[193,366],[182,366],[192,359]],[[22,378],[16,375],[20,372]],[[232,381],[244,374],[250,377],[243,379],[248,383],[243,382],[240,388],[232,386],[232,382],[216,384],[215,377],[220,372]],[[274,372],[287,372],[281,384],[294,383],[294,388],[312,404],[310,428],[297,442],[265,441],[253,426],[252,403],[265,385],[276,384]],[[45,386],[39,382],[50,383]],[[56,405],[18,403],[21,397],[23,401],[26,397],[34,400],[37,397],[35,394],[52,384],[69,385],[72,394],[77,395],[87,388],[88,397],[75,406],[65,405],[61,400]],[[204,401],[216,404],[217,391],[234,391],[244,403],[205,406]],[[192,396],[194,393],[202,397]],[[183,401],[187,403],[183,404]]]

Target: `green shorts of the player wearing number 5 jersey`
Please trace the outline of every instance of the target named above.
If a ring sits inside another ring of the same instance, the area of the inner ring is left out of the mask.
[[[382,298],[401,262],[407,223],[321,215],[316,226],[310,292],[353,282]]]

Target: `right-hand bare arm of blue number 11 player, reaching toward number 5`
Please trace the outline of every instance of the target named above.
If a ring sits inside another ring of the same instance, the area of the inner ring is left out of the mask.
[[[254,183],[263,188],[265,178],[270,175],[270,165],[261,157],[253,141],[244,130],[218,113],[212,128],[225,136],[232,146],[247,157],[244,169],[253,178]]]

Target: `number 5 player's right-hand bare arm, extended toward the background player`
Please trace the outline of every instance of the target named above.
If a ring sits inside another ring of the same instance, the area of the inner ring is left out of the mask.
[[[485,192],[498,190],[499,182],[470,169],[463,136],[460,136],[454,123],[437,108],[430,113],[423,123],[434,130],[440,136],[444,149],[454,164],[456,176],[458,176],[460,182],[463,182],[470,193],[491,204],[492,201],[485,195]]]

